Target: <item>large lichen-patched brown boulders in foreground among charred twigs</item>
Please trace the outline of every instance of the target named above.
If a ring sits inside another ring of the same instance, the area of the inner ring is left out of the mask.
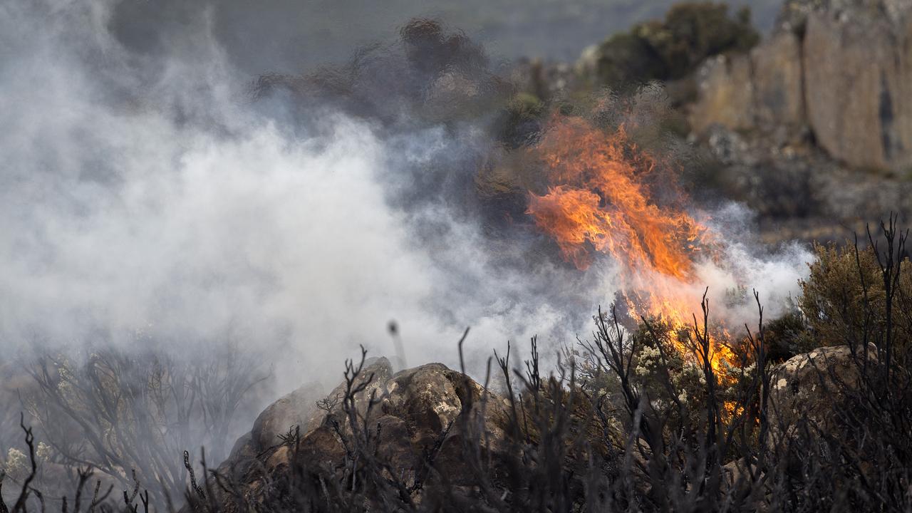
[[[426,476],[429,458],[435,468],[447,470],[449,486],[469,486],[472,472],[462,454],[462,438],[483,436],[491,455],[505,450],[506,403],[461,372],[430,363],[393,374],[382,358],[365,367],[355,386],[359,384],[364,390],[355,396],[355,429],[344,407],[345,382],[319,397],[302,387],[269,406],[254,434],[242,437],[220,466],[237,487],[235,497],[224,497],[228,510],[239,497],[266,508],[281,503],[290,473],[299,473],[304,481],[315,479],[320,487],[350,480],[352,468],[369,465],[363,459],[368,454],[409,486]],[[466,423],[457,422],[461,414],[472,418],[468,432]],[[288,430],[289,419],[300,421],[296,435]],[[358,449],[359,444],[369,448]],[[366,452],[358,456],[359,450]]]

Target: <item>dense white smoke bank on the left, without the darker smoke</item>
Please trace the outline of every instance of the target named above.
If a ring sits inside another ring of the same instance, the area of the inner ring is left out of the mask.
[[[390,353],[389,319],[412,364],[455,361],[467,325],[476,346],[554,325],[512,299],[528,275],[490,276],[476,226],[411,213],[445,227],[420,246],[388,206],[380,177],[445,143],[401,154],[332,112],[285,131],[244,101],[205,19],[152,58],[111,37],[110,7],[0,7],[4,348],[232,338],[296,386],[335,379],[358,344]]]

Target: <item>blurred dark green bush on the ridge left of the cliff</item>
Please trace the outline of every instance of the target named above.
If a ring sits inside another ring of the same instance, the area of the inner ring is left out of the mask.
[[[705,58],[743,52],[759,41],[759,33],[751,26],[750,7],[731,17],[725,4],[674,5],[664,21],[637,24],[602,43],[596,79],[613,89],[681,79]]]

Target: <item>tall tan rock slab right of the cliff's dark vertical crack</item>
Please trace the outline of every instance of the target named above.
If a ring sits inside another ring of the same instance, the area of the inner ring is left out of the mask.
[[[912,163],[912,25],[858,12],[807,16],[807,118],[818,144],[861,168]]]

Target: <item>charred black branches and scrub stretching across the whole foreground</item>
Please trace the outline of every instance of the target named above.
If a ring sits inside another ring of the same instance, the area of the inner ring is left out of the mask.
[[[881,226],[880,239],[871,236],[870,242],[869,251],[857,246],[821,250],[804,284],[805,301],[814,299],[820,308],[810,311],[825,315],[804,319],[803,330],[843,349],[824,348],[787,366],[775,364],[770,337],[778,335],[766,329],[758,301],[759,325],[745,327],[741,343],[731,344],[741,359],[733,386],[721,382],[707,358],[707,301],[686,333],[662,330],[650,319],[641,319],[641,330],[631,333],[621,327],[614,309],[599,312],[592,336],[567,351],[554,374],[543,373],[535,340],[522,366],[511,361],[508,347],[489,360],[484,382],[461,374],[459,414],[440,427],[420,465],[405,473],[383,450],[377,409],[384,391],[375,386],[362,351],[358,361],[346,363],[340,397],[324,402],[327,433],[341,447],[336,466],[321,465],[315,457],[326,456],[321,445],[295,426],[276,441],[277,450],[287,452],[288,465],[281,471],[266,473],[255,458],[243,472],[212,469],[203,458],[197,476],[189,453],[182,453],[181,462],[181,450],[174,449],[160,456],[161,469],[134,460],[137,475],[154,477],[121,479],[128,491],[119,504],[113,495],[86,499],[90,471],[80,471],[69,508],[174,510],[167,500],[155,502],[154,492],[151,504],[148,492],[140,493],[140,483],[147,487],[169,478],[188,490],[183,510],[207,513],[908,511],[912,323],[904,285],[906,234],[891,218]],[[855,267],[849,262],[853,256]],[[685,340],[698,356],[696,368],[689,370],[696,372],[694,379],[681,379],[669,337]],[[659,362],[648,372],[640,370],[644,348]],[[827,355],[839,351],[845,355],[841,366],[828,365]],[[106,369],[127,372],[110,361]],[[787,373],[795,369],[804,373]],[[42,371],[36,378],[56,383],[49,375]],[[490,392],[494,376],[503,379],[503,397]],[[103,383],[115,376],[95,379]],[[807,383],[816,394],[814,404],[788,411],[793,404],[784,398]],[[67,404],[57,406],[67,411]],[[231,410],[218,411],[227,415]],[[213,418],[209,429],[217,430],[226,419]],[[0,507],[3,513],[47,506],[32,484],[35,437],[24,423],[22,429],[32,471],[18,483],[21,492],[12,508]],[[153,434],[133,436],[132,443],[141,444],[136,436]],[[135,449],[124,445],[124,450]],[[456,464],[443,456],[454,449],[461,455]],[[182,472],[173,470],[174,461],[183,463]],[[244,476],[257,473],[264,487],[253,494]]]

